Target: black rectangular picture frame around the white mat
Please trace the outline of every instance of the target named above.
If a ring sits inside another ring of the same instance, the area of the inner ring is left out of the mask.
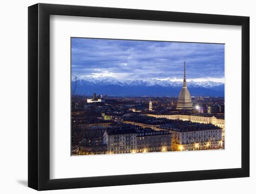
[[[51,180],[50,15],[242,26],[242,167]],[[236,177],[249,177],[249,17],[41,3],[28,7],[28,187],[52,190]]]

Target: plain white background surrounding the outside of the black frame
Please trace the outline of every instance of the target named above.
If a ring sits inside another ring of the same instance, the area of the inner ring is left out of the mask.
[[[27,7],[37,3],[36,0],[2,1],[0,9],[0,118],[1,118],[1,193],[35,193],[27,188]],[[40,0],[41,3],[74,4],[101,7],[123,7],[152,9],[177,12],[215,13],[250,16],[250,64],[255,61],[252,56],[256,45],[253,36],[256,28],[256,12],[252,0]],[[252,67],[252,65],[251,65]],[[251,77],[256,74],[251,68]],[[251,99],[256,98],[251,78]],[[256,116],[255,101],[251,100],[251,120]],[[251,123],[250,136],[256,135],[255,123]],[[251,138],[252,139],[252,138]],[[211,181],[189,181],[176,183],[148,184],[119,187],[98,187],[47,191],[46,193],[253,193],[256,182],[256,144],[251,142],[251,177]]]

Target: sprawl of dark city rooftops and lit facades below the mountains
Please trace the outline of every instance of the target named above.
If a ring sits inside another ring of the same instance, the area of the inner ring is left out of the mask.
[[[179,98],[107,97],[105,102],[96,94],[77,96],[71,112],[72,155],[224,148],[224,98],[190,97],[186,84],[184,63]],[[183,94],[184,106],[176,109]],[[188,99],[195,108],[187,110]],[[214,107],[211,114],[208,107]]]

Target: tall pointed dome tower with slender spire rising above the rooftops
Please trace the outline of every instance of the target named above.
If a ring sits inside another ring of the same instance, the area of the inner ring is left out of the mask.
[[[185,61],[184,61],[184,79],[183,79],[182,89],[179,94],[176,109],[178,110],[193,109],[191,96],[187,87]]]

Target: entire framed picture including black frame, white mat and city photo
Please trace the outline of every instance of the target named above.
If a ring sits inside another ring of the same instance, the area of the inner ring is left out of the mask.
[[[249,176],[249,17],[28,7],[28,187]]]

